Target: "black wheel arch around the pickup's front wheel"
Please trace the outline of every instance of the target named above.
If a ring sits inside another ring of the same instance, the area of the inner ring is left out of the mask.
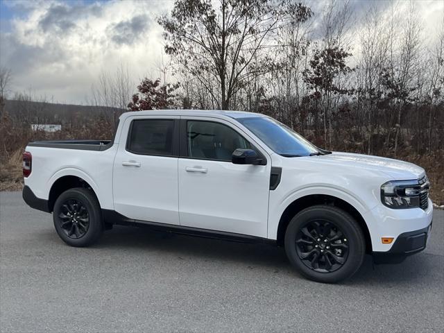
[[[348,214],[350,214],[357,221],[359,227],[364,233],[364,238],[366,241],[366,253],[372,252],[370,231],[368,230],[367,223],[361,213],[347,201],[327,194],[309,194],[302,196],[296,200],[293,200],[293,202],[287,206],[280,216],[280,221],[278,224],[278,234],[276,238],[278,245],[284,245],[285,231],[287,230],[287,226],[289,225],[291,219],[293,219],[293,216],[305,208],[314,205],[332,205],[344,210],[345,212],[348,212]]]

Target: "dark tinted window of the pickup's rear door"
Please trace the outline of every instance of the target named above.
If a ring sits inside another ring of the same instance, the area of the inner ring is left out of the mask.
[[[133,120],[126,149],[142,155],[173,155],[173,119]]]

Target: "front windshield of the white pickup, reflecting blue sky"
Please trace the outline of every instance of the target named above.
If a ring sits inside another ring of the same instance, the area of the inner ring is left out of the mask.
[[[314,144],[273,118],[246,117],[236,120],[279,155],[296,157],[323,154]]]

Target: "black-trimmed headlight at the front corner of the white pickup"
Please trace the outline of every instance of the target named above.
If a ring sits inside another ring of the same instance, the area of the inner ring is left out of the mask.
[[[421,180],[391,180],[381,186],[381,201],[394,209],[422,207],[422,196],[429,190],[427,178]]]

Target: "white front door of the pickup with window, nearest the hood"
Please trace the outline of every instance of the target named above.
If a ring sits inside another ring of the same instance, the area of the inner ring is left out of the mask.
[[[231,162],[237,148],[253,148],[266,165]],[[181,117],[180,225],[267,236],[271,160],[228,121]]]

